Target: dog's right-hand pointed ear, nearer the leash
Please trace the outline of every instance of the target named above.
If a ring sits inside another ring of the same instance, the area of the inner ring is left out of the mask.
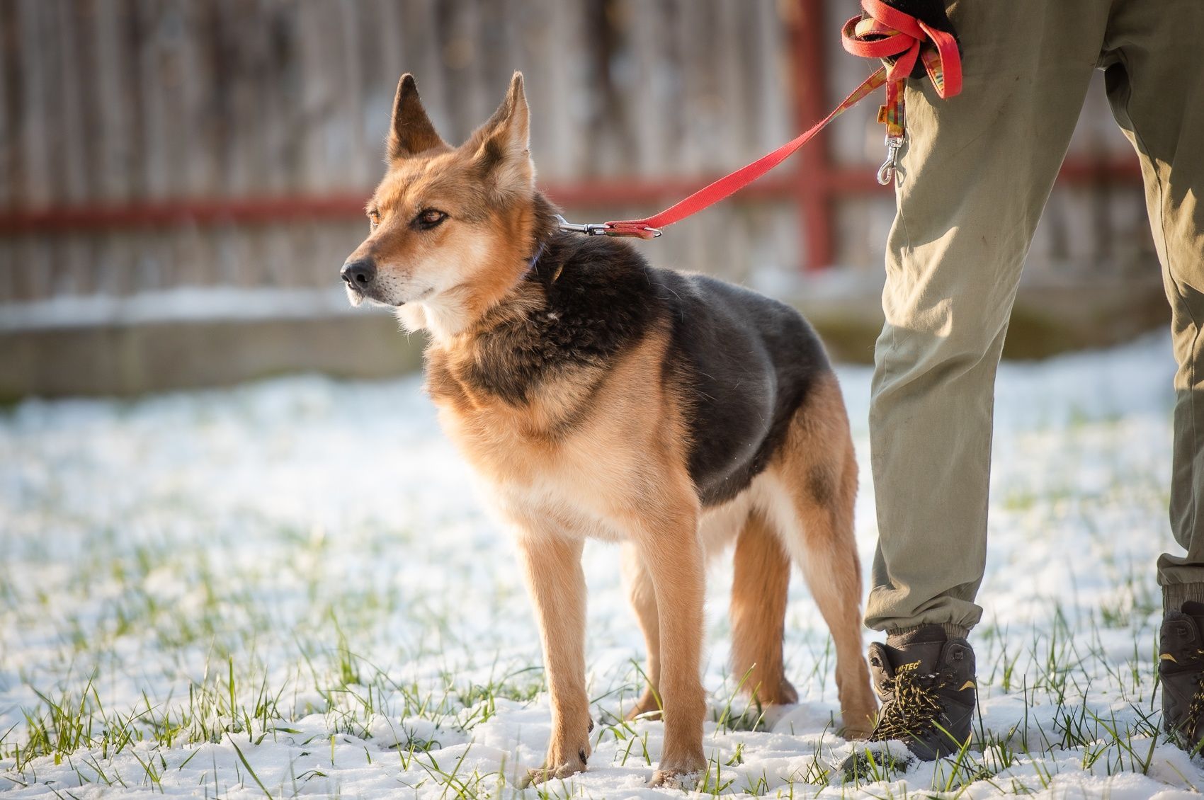
[[[531,164],[531,111],[515,72],[506,99],[494,115],[465,143],[483,177],[500,190],[523,191],[535,185]]]

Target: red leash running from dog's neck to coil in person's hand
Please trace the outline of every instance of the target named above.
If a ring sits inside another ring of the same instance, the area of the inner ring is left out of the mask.
[[[795,150],[824,130],[828,123],[852,108],[881,85],[886,87],[886,103],[878,109],[878,122],[886,125],[886,160],[878,168],[878,183],[890,184],[895,177],[895,160],[898,156],[899,147],[903,146],[903,81],[911,73],[919,60],[932,79],[937,95],[942,99],[952,97],[962,90],[962,59],[957,51],[957,41],[951,34],[937,30],[881,0],[861,0],[861,7],[864,16],[854,17],[840,30],[840,42],[844,45],[844,49],[854,55],[877,59],[893,58],[895,61],[879,67],[862,81],[861,85],[854,89],[827,117],[777,150],[719,178],[657,214],[643,219],[583,225],[574,225],[561,218],[561,230],[577,231],[586,236],[656,238],[666,226],[715,205],[785,161]],[[932,42],[936,47],[925,48],[926,42]]]

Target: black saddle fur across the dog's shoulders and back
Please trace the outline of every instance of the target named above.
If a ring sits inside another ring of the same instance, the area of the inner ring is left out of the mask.
[[[651,267],[627,242],[553,233],[526,280],[542,288],[545,307],[491,331],[473,381],[523,403],[539,381],[602,365],[667,324],[662,378],[686,395],[689,469],[703,505],[748,487],[814,380],[831,369],[795,309],[722,280]]]

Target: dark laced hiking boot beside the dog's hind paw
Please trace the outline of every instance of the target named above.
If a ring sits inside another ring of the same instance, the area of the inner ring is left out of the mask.
[[[893,645],[872,644],[869,670],[883,701],[869,741],[898,739],[931,762],[969,739],[978,691],[968,641],[949,639],[940,626],[921,626]]]

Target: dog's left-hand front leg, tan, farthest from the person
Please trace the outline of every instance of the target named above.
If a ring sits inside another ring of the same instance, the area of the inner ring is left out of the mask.
[[[585,694],[585,574],[579,539],[520,535],[519,552],[535,602],[543,664],[551,694],[551,741],[543,768],[527,783],[563,778],[585,769],[590,755],[590,703]]]

